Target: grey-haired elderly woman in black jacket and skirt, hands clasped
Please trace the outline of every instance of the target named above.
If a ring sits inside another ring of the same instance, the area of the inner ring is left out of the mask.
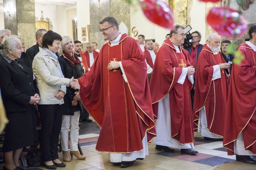
[[[19,155],[23,147],[33,145],[33,105],[40,98],[32,69],[19,59],[22,52],[22,43],[18,38],[8,37],[4,40],[1,50],[3,57],[0,58],[0,87],[9,119],[3,141],[4,170],[30,169],[19,164]]]

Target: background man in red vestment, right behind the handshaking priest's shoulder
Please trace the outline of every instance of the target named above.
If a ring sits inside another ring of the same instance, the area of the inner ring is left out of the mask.
[[[146,46],[145,46],[146,50],[143,53],[145,55],[146,63],[147,63],[147,78],[148,78],[148,82],[150,82],[151,73],[152,73],[153,66],[154,66],[154,63],[156,60],[157,52],[155,50],[153,50],[154,44],[151,39],[146,40],[145,44],[146,44]]]

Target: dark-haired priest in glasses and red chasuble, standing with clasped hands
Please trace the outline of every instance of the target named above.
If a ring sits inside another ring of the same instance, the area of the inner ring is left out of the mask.
[[[157,117],[157,150],[173,152],[179,148],[188,155],[194,149],[193,117],[190,102],[195,69],[180,44],[186,37],[184,27],[175,26],[157,55],[150,82],[153,112]],[[193,149],[192,149],[193,148]]]

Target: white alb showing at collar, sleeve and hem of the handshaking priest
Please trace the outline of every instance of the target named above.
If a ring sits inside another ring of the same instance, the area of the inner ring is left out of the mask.
[[[121,36],[122,36],[122,33],[120,33],[115,40],[110,41],[111,47],[119,44],[119,40],[120,40]],[[122,67],[120,67],[120,69],[124,72]],[[124,77],[124,75],[123,75],[123,77]],[[125,82],[127,82],[125,77],[124,77],[124,80],[125,80]],[[122,161],[133,161],[133,160],[136,160],[137,158],[145,158],[145,156],[148,155],[147,135],[145,136],[144,139],[142,139],[142,145],[143,145],[143,149],[141,151],[136,151],[136,152],[131,152],[131,153],[109,153],[110,162],[119,163]]]

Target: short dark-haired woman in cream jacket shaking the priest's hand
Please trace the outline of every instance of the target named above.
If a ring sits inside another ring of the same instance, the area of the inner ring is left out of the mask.
[[[55,54],[60,48],[62,37],[48,31],[43,36],[42,48],[35,55],[32,68],[40,90],[41,100],[38,110],[41,115],[40,148],[42,161],[47,169],[65,167],[58,157],[58,140],[62,122],[63,97],[66,86],[78,89],[79,84],[73,79],[64,78],[58,57]]]

